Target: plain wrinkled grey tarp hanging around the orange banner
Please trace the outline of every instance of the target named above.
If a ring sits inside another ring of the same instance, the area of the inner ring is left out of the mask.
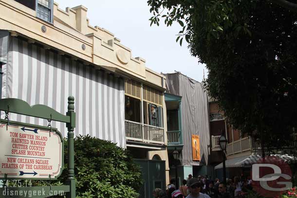
[[[208,161],[209,116],[208,99],[203,85],[176,72],[165,74],[167,92],[182,96],[183,165],[202,165]],[[192,134],[200,137],[201,161],[192,158]]]

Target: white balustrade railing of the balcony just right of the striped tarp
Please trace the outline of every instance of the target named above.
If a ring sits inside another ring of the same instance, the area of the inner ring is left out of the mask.
[[[142,129],[143,128],[143,129]],[[165,144],[164,128],[125,120],[126,140]]]

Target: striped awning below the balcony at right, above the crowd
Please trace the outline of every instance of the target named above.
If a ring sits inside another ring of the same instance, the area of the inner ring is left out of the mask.
[[[297,163],[297,158],[289,155],[273,155],[288,163]],[[226,168],[232,167],[251,167],[252,164],[257,163],[261,159],[260,155],[243,156],[239,158],[233,158],[225,161]],[[216,165],[215,169],[223,168],[223,162]]]

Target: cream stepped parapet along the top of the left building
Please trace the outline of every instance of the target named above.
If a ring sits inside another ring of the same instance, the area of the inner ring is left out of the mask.
[[[54,3],[54,24],[36,17],[36,12],[14,0],[0,0],[0,29],[42,43],[95,65],[114,68],[141,82],[165,89],[165,76],[146,68],[143,58],[132,57],[120,39],[98,26],[91,26],[88,9],[82,5],[61,10]],[[46,32],[41,27],[45,26]]]

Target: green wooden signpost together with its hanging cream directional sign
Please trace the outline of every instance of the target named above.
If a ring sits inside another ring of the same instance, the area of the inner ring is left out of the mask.
[[[34,105],[16,98],[0,99],[5,120],[0,124],[0,180],[55,180],[63,167],[63,139],[51,121],[66,123],[68,128],[68,177],[62,186],[30,186],[0,188],[0,198],[47,198],[65,194],[75,198],[74,180],[74,97],[68,97],[66,115],[45,105]],[[9,113],[47,119],[49,126],[37,126],[9,120]],[[3,125],[4,123],[4,125]]]

